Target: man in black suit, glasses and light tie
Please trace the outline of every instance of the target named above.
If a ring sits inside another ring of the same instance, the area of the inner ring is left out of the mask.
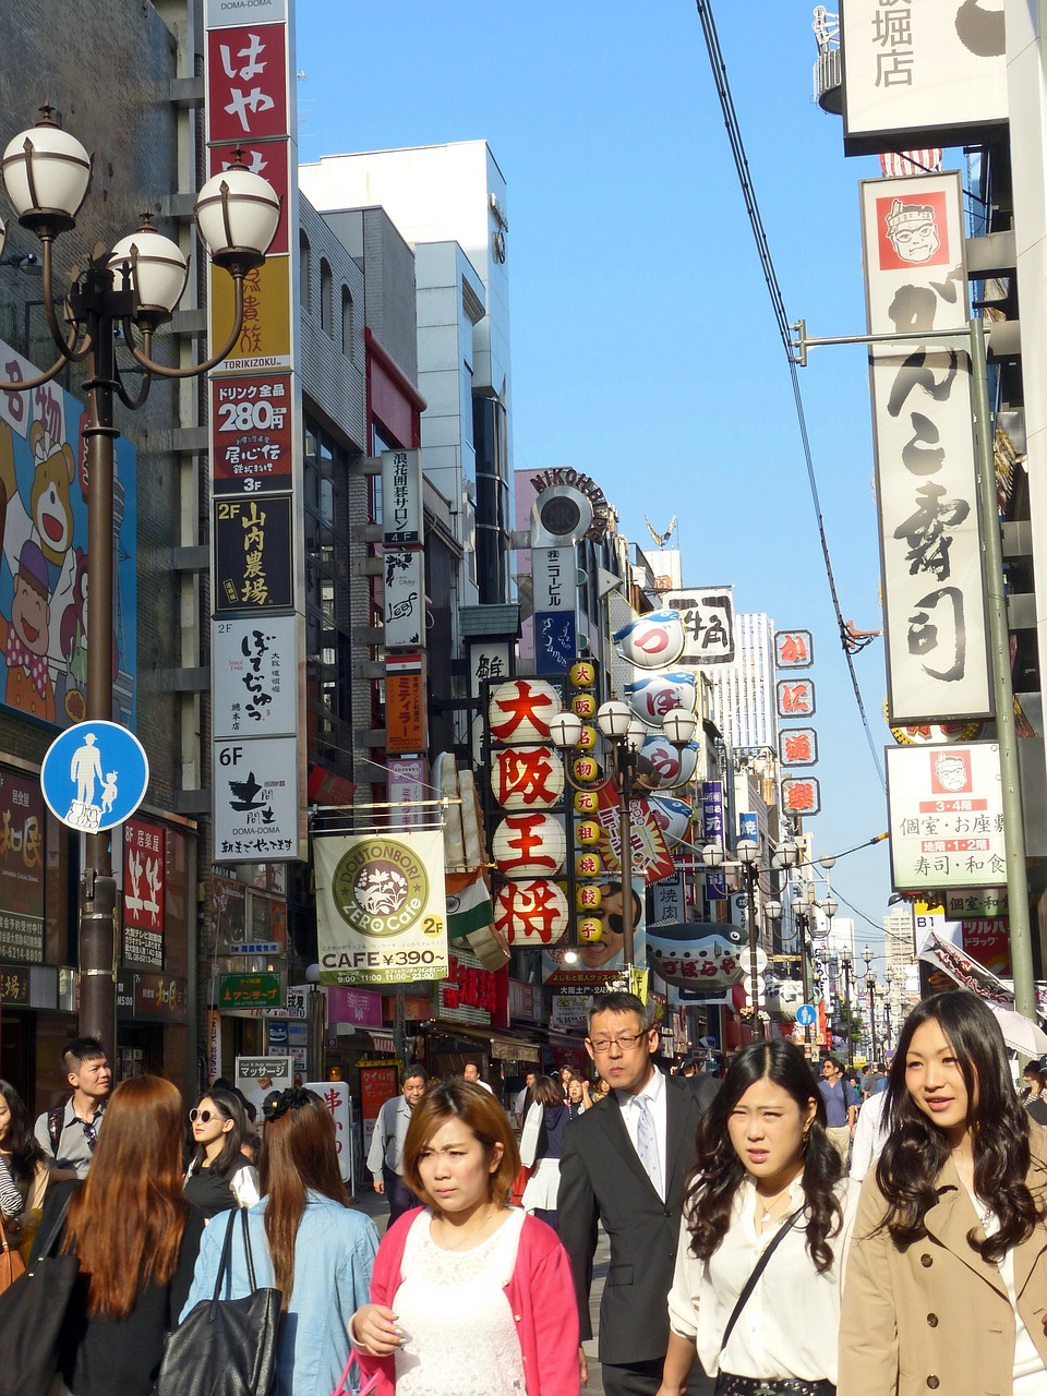
[[[585,1047],[611,1093],[604,1104],[572,1120],[564,1134],[560,1240],[571,1258],[585,1340],[592,1337],[596,1223],[603,1223],[610,1240],[600,1304],[603,1389],[606,1396],[653,1396],[669,1346],[666,1298],[694,1132],[719,1083],[683,1081],[656,1069],[658,1029],[634,994],[593,998]],[[688,1389],[712,1393],[701,1364],[694,1372]]]

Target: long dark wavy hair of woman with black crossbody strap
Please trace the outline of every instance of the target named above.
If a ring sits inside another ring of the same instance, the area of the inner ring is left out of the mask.
[[[727,1121],[750,1086],[765,1079],[786,1090],[801,1114],[807,1113],[812,1100],[815,1103],[804,1141],[803,1191],[807,1252],[821,1275],[833,1261],[829,1237],[839,1231],[843,1222],[833,1191],[840,1175],[840,1159],[825,1134],[825,1103],[818,1093],[818,1082],[800,1048],[787,1041],[750,1043],[744,1047],[698,1122],[698,1163],[684,1198],[691,1251],[699,1261],[709,1261],[727,1234],[734,1198],[745,1178],[745,1166],[730,1142]]]

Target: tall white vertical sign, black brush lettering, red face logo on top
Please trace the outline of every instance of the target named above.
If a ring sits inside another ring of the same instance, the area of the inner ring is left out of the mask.
[[[864,180],[891,722],[991,713],[958,173]],[[990,521],[995,526],[994,521]]]

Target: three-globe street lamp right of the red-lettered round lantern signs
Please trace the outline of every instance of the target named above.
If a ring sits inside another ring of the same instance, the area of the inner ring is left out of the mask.
[[[637,758],[651,729],[628,704],[611,699],[596,709],[596,726],[611,750],[611,780],[618,792],[618,840],[621,843],[621,956],[625,972],[631,973],[635,963],[635,914],[632,906],[632,799],[637,785]],[[662,719],[662,732],[669,741],[681,750],[694,737],[698,718],[685,708],[670,708]],[[582,740],[582,719],[572,712],[557,713],[549,723],[549,736],[560,751],[577,747]],[[564,762],[568,785],[579,786],[571,775],[570,762]]]

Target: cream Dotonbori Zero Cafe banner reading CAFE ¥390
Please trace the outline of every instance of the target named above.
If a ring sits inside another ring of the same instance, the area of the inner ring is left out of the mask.
[[[321,984],[447,977],[441,829],[314,838]]]

